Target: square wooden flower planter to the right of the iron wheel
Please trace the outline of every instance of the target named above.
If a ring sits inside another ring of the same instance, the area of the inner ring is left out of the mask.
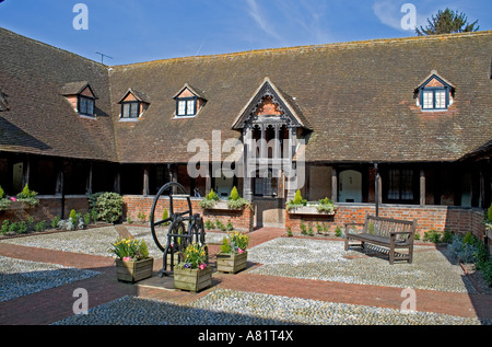
[[[246,268],[249,236],[237,231],[224,236],[221,252],[216,254],[216,270],[236,274]]]

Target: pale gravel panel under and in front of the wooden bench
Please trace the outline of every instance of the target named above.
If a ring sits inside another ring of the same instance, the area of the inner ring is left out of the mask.
[[[389,265],[386,257],[345,252],[339,241],[279,238],[250,248],[248,261],[263,264],[254,274],[476,293],[461,267],[450,264],[446,254],[427,246],[415,251],[412,264]]]

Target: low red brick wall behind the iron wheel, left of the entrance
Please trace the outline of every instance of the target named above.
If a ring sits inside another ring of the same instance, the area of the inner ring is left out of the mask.
[[[200,213],[200,216],[203,218],[203,221],[211,220],[214,222],[215,220],[220,220],[225,225],[231,221],[235,230],[245,232],[253,231],[254,213],[249,208],[244,208],[242,210],[203,210],[200,206],[198,206],[200,198],[191,198],[190,200],[192,212]],[[127,217],[130,217],[133,222],[139,222],[139,212],[144,213],[147,220],[149,220],[152,205],[154,203],[154,196],[125,195],[124,201],[125,220],[127,219]],[[174,198],[173,206],[175,212],[180,212],[188,209],[188,203],[186,199]],[[167,208],[167,211],[171,215],[169,199],[167,197],[161,197],[155,209],[155,216],[157,216],[156,218],[162,218],[162,213],[164,212],[165,208]]]

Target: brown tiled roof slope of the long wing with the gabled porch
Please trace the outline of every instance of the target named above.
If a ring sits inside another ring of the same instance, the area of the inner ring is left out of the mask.
[[[114,67],[110,84],[154,101],[145,119],[116,123],[124,162],[186,162],[187,143],[222,140],[263,79],[295,99],[313,131],[308,161],[454,161],[492,138],[492,32],[267,49]],[[436,70],[456,88],[447,112],[421,112],[414,90]],[[176,119],[173,95],[189,82],[208,103]],[[113,114],[117,114],[114,108]]]

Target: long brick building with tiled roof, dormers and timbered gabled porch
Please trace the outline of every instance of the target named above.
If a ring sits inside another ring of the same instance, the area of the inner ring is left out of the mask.
[[[491,46],[478,32],[109,67],[0,30],[0,185],[67,201],[102,190],[151,201],[169,181],[201,196],[237,186],[256,225],[313,219],[285,213],[301,188],[338,204],[331,223],[377,200],[420,231],[480,234]],[[209,165],[194,176],[190,160]]]

